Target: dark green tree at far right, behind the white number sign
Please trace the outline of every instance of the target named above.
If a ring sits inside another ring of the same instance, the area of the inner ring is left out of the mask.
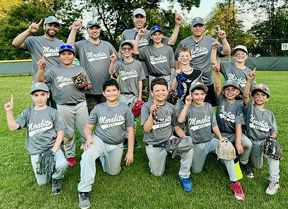
[[[241,0],[256,18],[254,26],[248,31],[257,39],[257,44],[249,46],[254,55],[287,56],[281,51],[281,43],[288,39],[288,0]]]

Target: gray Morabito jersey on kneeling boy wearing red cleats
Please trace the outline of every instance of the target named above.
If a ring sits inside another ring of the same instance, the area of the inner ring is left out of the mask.
[[[186,123],[193,143],[202,143],[211,140],[214,137],[212,128],[217,126],[212,105],[203,102],[201,107],[196,107],[192,103],[186,113]]]

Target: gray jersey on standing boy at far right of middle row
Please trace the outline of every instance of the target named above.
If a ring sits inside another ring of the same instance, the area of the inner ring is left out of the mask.
[[[243,100],[243,91],[247,83],[247,75],[250,72],[252,72],[252,70],[247,66],[242,70],[232,62],[220,62],[220,73],[224,76],[225,81],[228,79],[238,81],[240,94],[236,96],[236,100]],[[253,89],[254,85],[256,85],[255,78],[252,81],[251,89]]]

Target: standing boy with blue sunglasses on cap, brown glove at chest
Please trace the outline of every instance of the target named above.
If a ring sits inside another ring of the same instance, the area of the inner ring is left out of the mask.
[[[76,88],[71,81],[70,76],[80,71],[87,75],[83,67],[73,65],[72,62],[75,59],[75,51],[71,45],[63,44],[60,46],[59,59],[61,64],[52,66],[44,73],[46,61],[43,55],[42,59],[37,62],[38,72],[36,81],[51,83],[52,94],[57,103],[57,109],[66,126],[63,139],[68,166],[74,167],[76,165],[75,123],[80,134],[81,143],[84,146],[86,139],[83,134],[83,128],[88,119],[88,109],[84,91],[91,89],[92,85],[88,76],[88,84],[82,89]]]

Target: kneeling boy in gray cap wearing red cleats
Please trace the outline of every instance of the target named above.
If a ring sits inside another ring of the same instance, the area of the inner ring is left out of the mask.
[[[204,102],[208,87],[200,82],[191,85],[190,95],[186,97],[185,106],[181,111],[178,122],[182,123],[185,118],[189,136],[193,140],[192,170],[200,173],[203,169],[208,153],[215,151],[222,135],[217,126],[214,109],[210,103]],[[214,137],[214,133],[219,139]],[[241,184],[238,181],[235,164],[233,160],[223,160],[231,180],[230,188],[234,191],[236,199],[244,200]]]

